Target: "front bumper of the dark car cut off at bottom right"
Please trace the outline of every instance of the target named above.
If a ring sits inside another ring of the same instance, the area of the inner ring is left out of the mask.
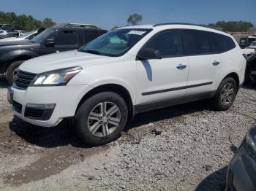
[[[246,151],[245,140],[227,169],[226,190],[256,190],[256,161]]]

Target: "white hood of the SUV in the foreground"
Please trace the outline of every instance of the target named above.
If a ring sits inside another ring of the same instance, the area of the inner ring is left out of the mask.
[[[67,52],[56,52],[50,55],[32,58],[21,64],[19,69],[39,74],[45,71],[64,69],[73,66],[81,66],[84,68],[91,63],[107,63],[113,59],[114,58],[108,56],[94,55],[86,52],[78,52],[77,50],[72,50]]]

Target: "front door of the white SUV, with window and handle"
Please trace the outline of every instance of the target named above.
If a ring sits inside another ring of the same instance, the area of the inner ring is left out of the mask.
[[[144,48],[159,50],[162,59],[137,61],[137,102],[151,104],[185,96],[189,63],[184,56],[181,31],[162,31]]]

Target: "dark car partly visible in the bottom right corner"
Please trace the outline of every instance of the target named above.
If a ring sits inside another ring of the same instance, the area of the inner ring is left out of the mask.
[[[256,190],[256,123],[252,125],[230,162],[226,190]]]

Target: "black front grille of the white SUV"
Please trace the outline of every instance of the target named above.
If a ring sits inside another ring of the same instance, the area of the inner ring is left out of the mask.
[[[29,87],[31,81],[34,79],[36,74],[18,70],[16,77],[15,77],[15,87],[20,89],[26,90]]]

